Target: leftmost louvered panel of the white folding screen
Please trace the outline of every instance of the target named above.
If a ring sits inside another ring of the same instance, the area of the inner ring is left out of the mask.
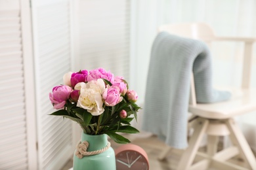
[[[29,1],[0,0],[0,169],[37,168],[30,24]]]

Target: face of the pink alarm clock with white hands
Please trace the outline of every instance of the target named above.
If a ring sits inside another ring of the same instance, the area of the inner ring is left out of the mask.
[[[117,170],[148,170],[148,161],[140,152],[124,150],[116,154],[116,168]]]

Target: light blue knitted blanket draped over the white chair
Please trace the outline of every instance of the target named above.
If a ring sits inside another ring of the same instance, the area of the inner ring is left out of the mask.
[[[230,98],[212,87],[211,53],[204,42],[161,32],[152,46],[142,129],[174,148],[187,146],[190,76],[198,103]]]

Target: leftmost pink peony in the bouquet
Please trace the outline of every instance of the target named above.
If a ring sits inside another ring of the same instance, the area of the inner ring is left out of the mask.
[[[66,104],[66,100],[70,98],[72,88],[70,86],[55,86],[53,93],[49,93],[49,98],[54,109],[62,109]]]

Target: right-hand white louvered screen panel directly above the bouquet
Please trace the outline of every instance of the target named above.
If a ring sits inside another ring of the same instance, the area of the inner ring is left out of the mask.
[[[129,0],[81,1],[81,67],[103,67],[129,81],[129,3]]]

